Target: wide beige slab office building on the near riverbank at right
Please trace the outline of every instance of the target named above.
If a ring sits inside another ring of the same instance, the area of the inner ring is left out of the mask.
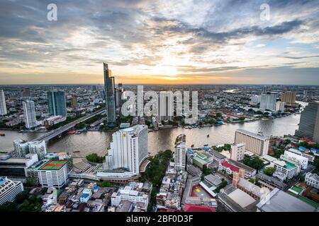
[[[256,155],[267,155],[269,149],[269,138],[261,133],[252,133],[243,129],[235,132],[235,144],[245,143],[246,150]]]

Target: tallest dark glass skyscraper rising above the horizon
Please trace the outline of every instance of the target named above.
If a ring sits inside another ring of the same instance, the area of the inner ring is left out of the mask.
[[[105,100],[106,100],[106,120],[109,124],[116,122],[116,97],[115,97],[115,83],[111,70],[108,70],[108,64],[103,63],[104,69],[104,86],[105,86]]]

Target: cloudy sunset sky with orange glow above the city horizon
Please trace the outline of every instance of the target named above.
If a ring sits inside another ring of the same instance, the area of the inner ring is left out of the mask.
[[[103,62],[116,83],[319,85],[317,0],[1,0],[0,21],[0,85],[103,83]]]

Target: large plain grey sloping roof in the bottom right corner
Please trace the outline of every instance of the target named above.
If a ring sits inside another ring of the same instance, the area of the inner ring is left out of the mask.
[[[257,212],[315,212],[308,203],[290,194],[274,189],[257,204]]]

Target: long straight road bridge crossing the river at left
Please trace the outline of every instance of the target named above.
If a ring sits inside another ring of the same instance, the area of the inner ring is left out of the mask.
[[[38,138],[35,138],[33,141],[45,141],[45,142],[50,141],[50,139],[55,138],[56,136],[59,136],[61,133],[64,133],[65,131],[68,131],[69,129],[71,129],[75,125],[77,125],[83,121],[86,121],[87,119],[90,119],[91,117],[96,116],[96,114],[101,114],[103,112],[105,112],[105,109],[99,109],[98,111],[96,111],[94,113],[88,114],[80,119],[77,119],[75,121],[70,122],[69,124],[66,124],[64,126],[61,126],[57,129],[55,129],[55,130],[52,130],[48,133],[45,133],[45,135],[40,136]]]

